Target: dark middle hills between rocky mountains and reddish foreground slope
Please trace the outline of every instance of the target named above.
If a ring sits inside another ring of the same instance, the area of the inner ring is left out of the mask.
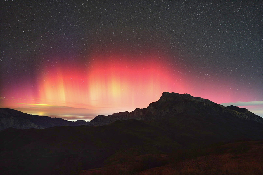
[[[0,131],[4,174],[72,174],[127,157],[262,140],[263,124],[240,118],[178,115],[155,121],[124,120],[98,127],[51,127]]]

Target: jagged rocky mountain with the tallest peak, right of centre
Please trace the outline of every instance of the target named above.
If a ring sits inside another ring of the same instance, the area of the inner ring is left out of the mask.
[[[150,103],[147,108],[135,109],[132,112],[120,112],[113,115],[99,115],[90,121],[92,126],[108,125],[118,120],[156,120],[174,115],[214,115],[234,116],[245,120],[252,120],[263,123],[263,118],[255,115],[245,108],[236,106],[224,107],[210,100],[200,97],[193,97],[190,94],[178,94],[163,92],[160,99]]]

